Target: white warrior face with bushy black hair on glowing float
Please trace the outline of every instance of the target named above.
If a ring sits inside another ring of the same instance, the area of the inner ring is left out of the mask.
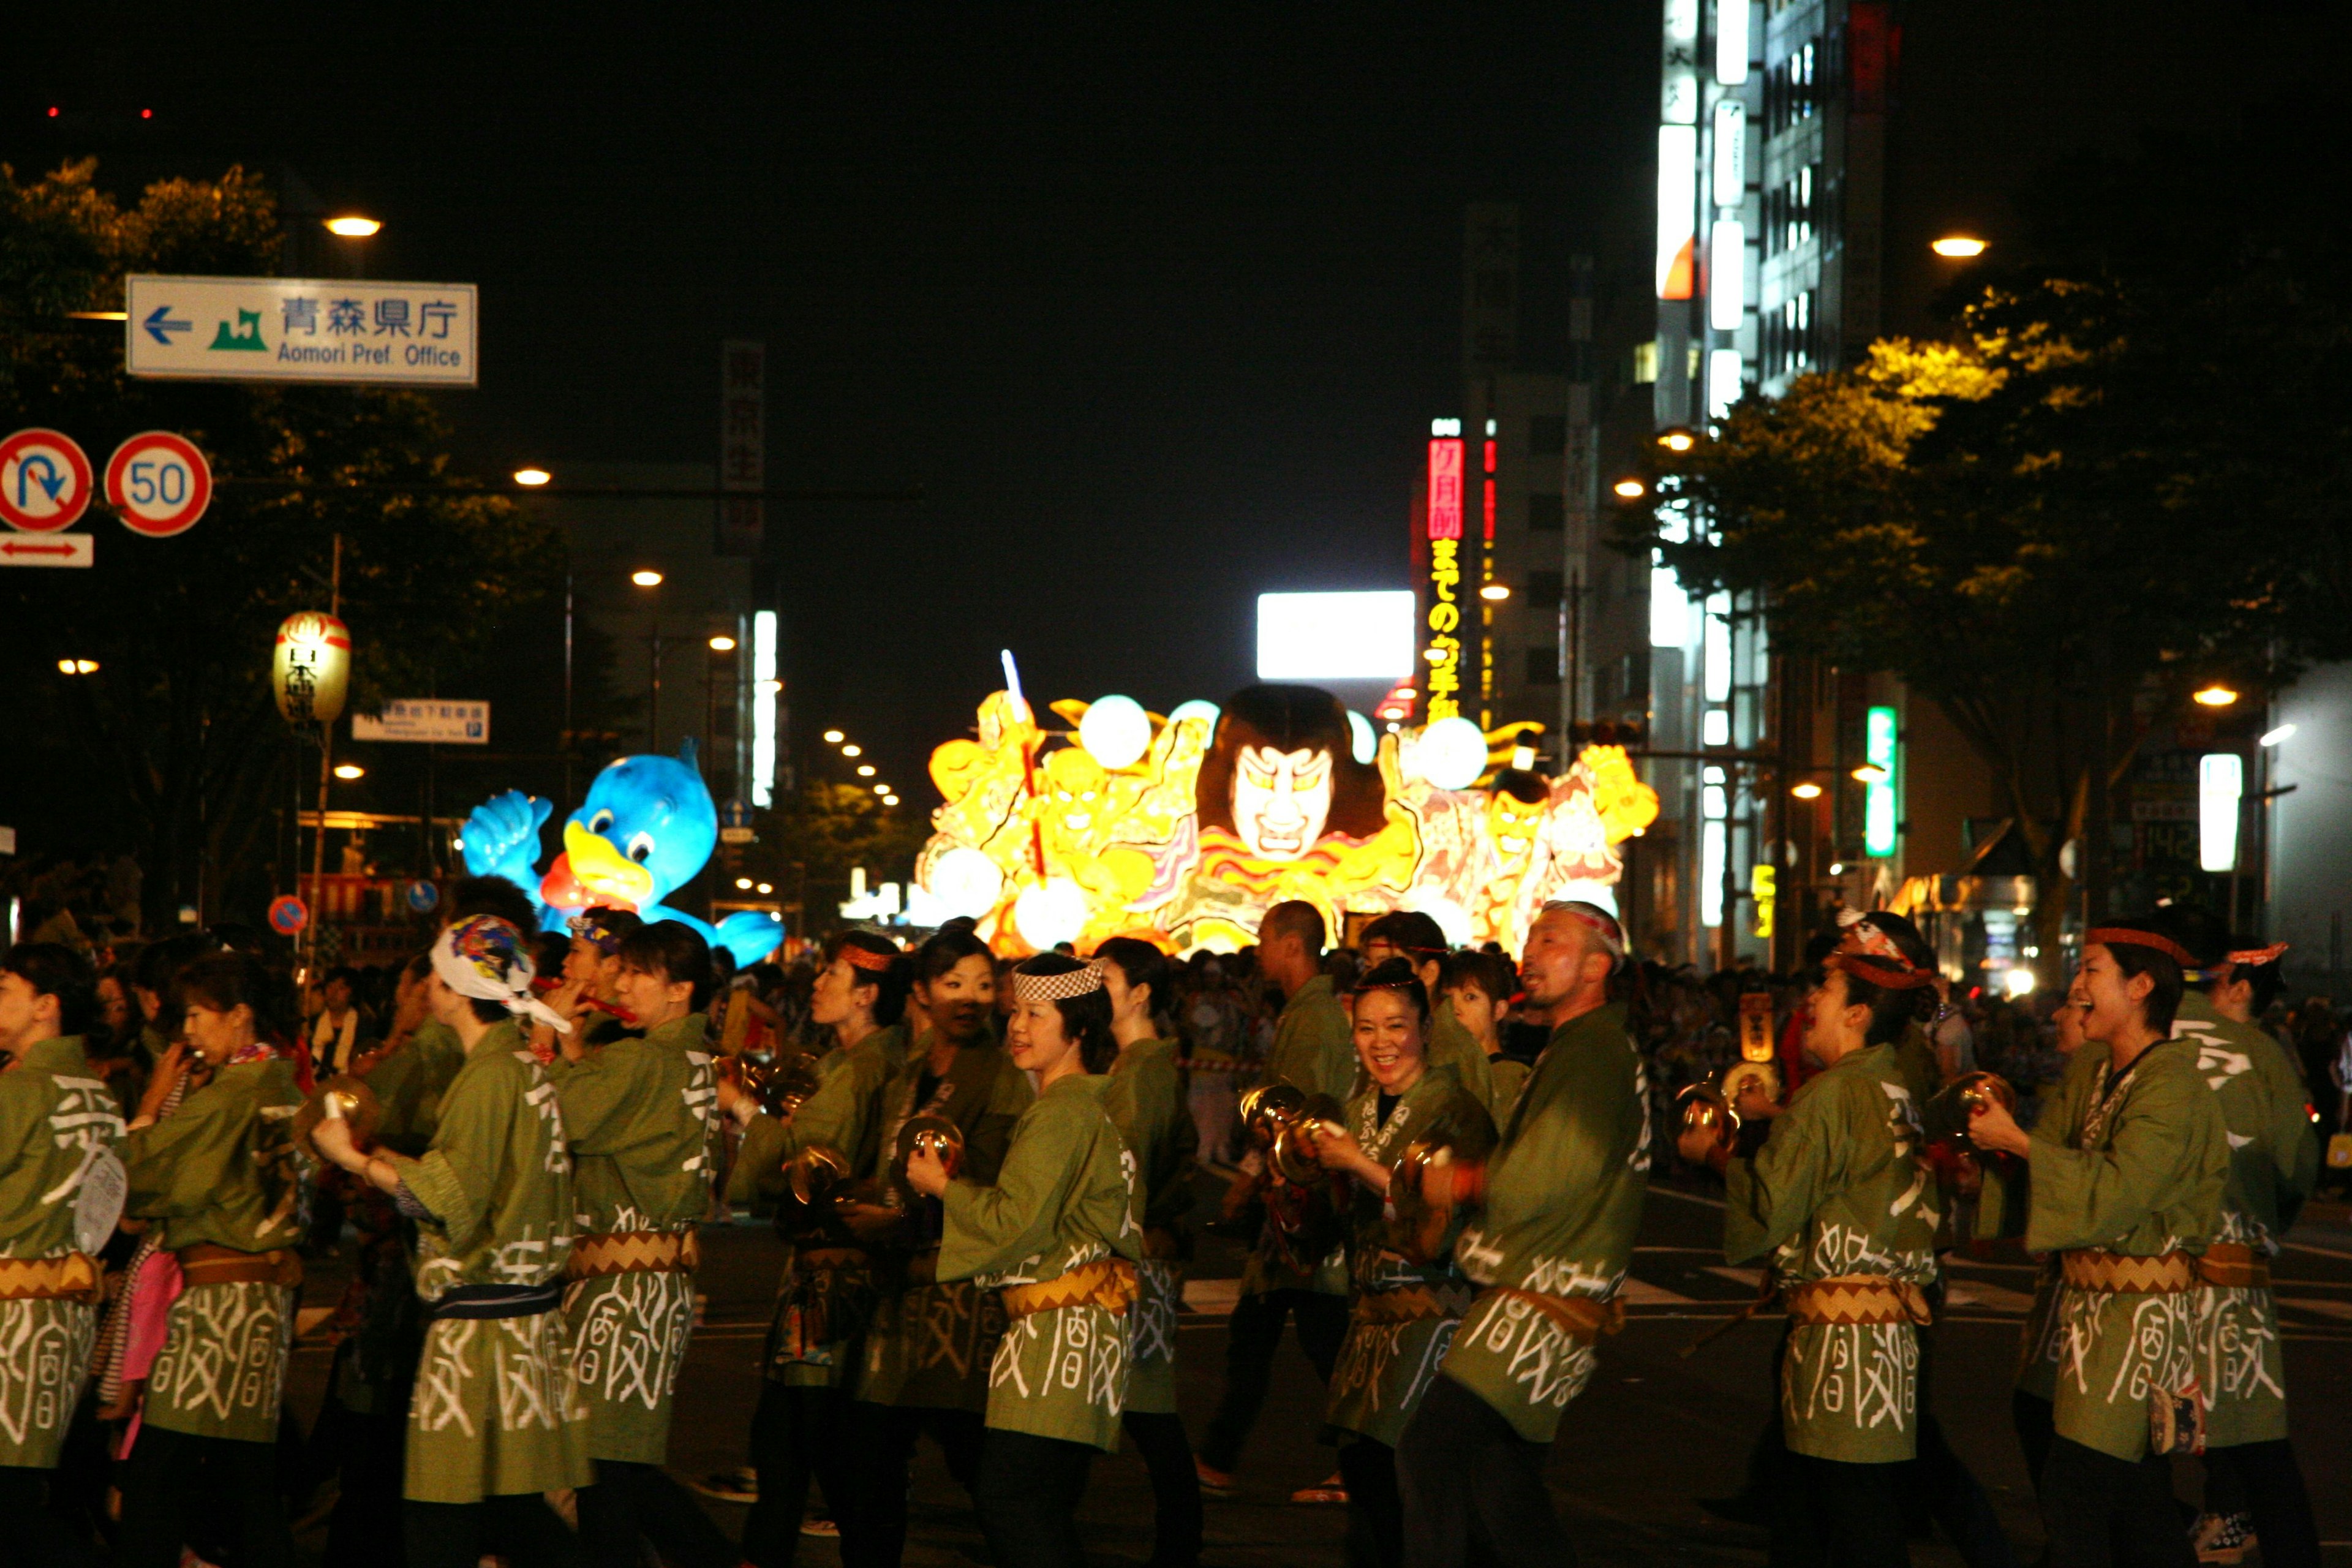
[[[1258,860],[1296,860],[1327,832],[1381,832],[1381,773],[1350,750],[1348,710],[1312,686],[1244,686],[1200,764],[1197,811]]]

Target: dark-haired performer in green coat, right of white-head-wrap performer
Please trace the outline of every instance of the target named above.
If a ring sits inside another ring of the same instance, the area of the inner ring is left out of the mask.
[[[642,1537],[677,1568],[734,1568],[736,1549],[663,1472],[715,1164],[710,947],[691,926],[640,924],[614,950],[612,992],[642,1034],[590,1048],[572,1030],[548,1067],[572,1150],[564,1316],[595,1460],[581,1547],[590,1563],[637,1568]]]

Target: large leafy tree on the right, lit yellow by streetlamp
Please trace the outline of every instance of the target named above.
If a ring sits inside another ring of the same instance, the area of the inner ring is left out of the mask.
[[[1778,649],[1933,701],[2009,804],[2056,954],[2060,849],[2103,844],[2150,717],[2345,651],[2343,491],[2293,451],[2343,416],[2343,343],[2331,303],[2260,266],[2020,275],[1955,341],[1882,341],[1736,407],[1623,541],[1691,592],[1759,592]]]

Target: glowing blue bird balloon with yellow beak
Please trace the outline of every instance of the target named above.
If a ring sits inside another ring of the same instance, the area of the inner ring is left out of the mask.
[[[661,900],[694,879],[720,842],[720,813],[694,757],[694,741],[675,757],[621,757],[595,776],[588,799],[564,820],[562,853],[539,872],[539,830],[553,806],[508,790],[466,818],[466,870],[506,877],[539,905],[539,924],[562,931],[581,910],[635,910],[654,924],[675,919],[736,964],[757,964],[783,940],[783,924],[760,910],[739,910],[713,926]]]

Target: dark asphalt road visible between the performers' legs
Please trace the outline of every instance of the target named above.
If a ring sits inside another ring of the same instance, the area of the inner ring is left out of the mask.
[[[1202,1178],[1204,1201],[1214,1180]],[[1710,1519],[1698,1497],[1740,1483],[1755,1434],[1771,1413],[1769,1359],[1776,1316],[1759,1316],[1684,1356],[1755,1293],[1755,1274],[1726,1269],[1717,1248],[1722,1213],[1700,1192],[1653,1187],[1628,1288],[1628,1326],[1602,1347],[1592,1387],[1569,1406],[1552,1448],[1550,1479],[1578,1554],[1590,1563],[1759,1563],[1764,1533]],[[1178,1342],[1183,1413],[1197,1432],[1223,1382],[1223,1309],[1242,1253],[1202,1239]],[[755,1356],[781,1253],[764,1225],[703,1232],[706,1324],[687,1356],[670,1469],[701,1476],[743,1462],[743,1434],[757,1399]],[[2009,1429],[2009,1387],[2018,1319],[2032,1288],[2023,1255],[1955,1258],[1945,1319],[1936,1333],[1933,1408],[1952,1448],[1992,1495],[2023,1561],[2039,1556],[2032,1490]],[[2296,1448],[2328,1561],[2352,1563],[2352,1215],[2338,1204],[2307,1218],[2277,1265]],[[296,1399],[315,1403],[325,1352],[299,1349]],[[303,1375],[308,1373],[308,1375]],[[1275,1392],[1247,1453],[1240,1490],[1211,1497],[1207,1561],[1216,1568],[1301,1568],[1341,1563],[1341,1509],[1298,1507],[1289,1493],[1331,1472],[1315,1441],[1322,1387],[1284,1340]],[[2197,1472],[2178,1474],[2194,1497]],[[710,1502],[734,1533],[743,1509]],[[1082,1523],[1091,1556],[1150,1556],[1150,1486],[1129,1450],[1096,1462]],[[830,1540],[804,1537],[802,1561],[833,1568]],[[962,1568],[985,1561],[962,1490],[938,1453],[917,1455],[908,1561]],[[1959,1563],[1943,1542],[1919,1542],[1915,1563]]]

